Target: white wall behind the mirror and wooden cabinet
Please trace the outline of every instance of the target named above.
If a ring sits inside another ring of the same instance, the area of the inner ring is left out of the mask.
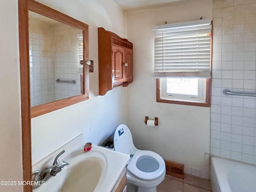
[[[98,27],[125,37],[124,11],[112,0],[39,0],[89,25],[90,99],[32,119],[32,163],[83,132],[85,141],[98,144],[120,123],[126,123],[126,88],[98,95]]]

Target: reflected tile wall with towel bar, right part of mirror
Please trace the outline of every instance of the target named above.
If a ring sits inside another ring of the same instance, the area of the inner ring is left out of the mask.
[[[54,26],[55,79],[76,80],[76,84],[55,82],[55,99],[60,100],[81,94],[79,44],[82,30],[66,24]]]

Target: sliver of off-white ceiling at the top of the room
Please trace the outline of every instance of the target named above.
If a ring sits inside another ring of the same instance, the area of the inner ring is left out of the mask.
[[[125,11],[138,11],[200,0],[114,0]]]

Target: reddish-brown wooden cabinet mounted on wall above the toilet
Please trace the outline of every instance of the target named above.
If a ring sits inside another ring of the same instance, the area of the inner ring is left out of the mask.
[[[99,95],[133,81],[133,45],[127,39],[98,28]]]

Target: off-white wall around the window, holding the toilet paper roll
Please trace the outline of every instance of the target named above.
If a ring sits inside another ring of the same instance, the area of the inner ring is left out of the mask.
[[[127,38],[134,43],[134,82],[128,86],[128,126],[135,145],[159,153],[166,160],[188,165],[199,175],[210,151],[210,108],[156,102],[153,77],[153,26],[212,18],[212,1],[205,0],[127,13]],[[144,117],[158,117],[159,126],[147,127]],[[188,169],[187,169],[188,168]],[[201,176],[207,176],[206,171]]]

